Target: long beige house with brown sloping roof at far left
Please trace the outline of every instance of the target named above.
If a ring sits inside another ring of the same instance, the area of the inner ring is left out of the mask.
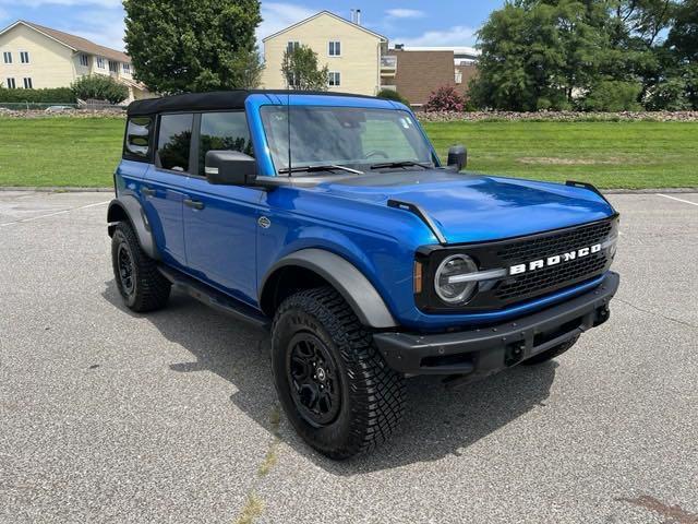
[[[132,102],[149,95],[133,80],[128,55],[80,36],[20,20],[0,31],[0,83],[8,88],[67,87],[87,74],[106,74],[129,87]]]

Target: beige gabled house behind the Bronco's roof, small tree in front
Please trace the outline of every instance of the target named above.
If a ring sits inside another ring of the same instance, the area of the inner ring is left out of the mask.
[[[264,38],[262,87],[288,87],[281,73],[284,52],[303,45],[317,53],[321,68],[327,64],[330,92],[375,95],[381,90],[381,59],[387,51],[388,40],[359,22],[358,17],[349,21],[322,11]]]

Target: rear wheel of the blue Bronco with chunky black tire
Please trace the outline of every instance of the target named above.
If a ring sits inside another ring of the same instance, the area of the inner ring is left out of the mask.
[[[131,260],[131,281],[125,281],[120,272],[120,257],[124,255]],[[157,263],[145,254],[128,222],[120,222],[115,228],[111,237],[111,263],[117,288],[129,309],[144,313],[165,307],[171,284],[158,271]]]

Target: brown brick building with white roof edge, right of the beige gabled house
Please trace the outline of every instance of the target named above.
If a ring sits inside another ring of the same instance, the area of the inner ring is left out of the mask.
[[[395,73],[384,75],[384,87],[396,90],[417,108],[442,86],[468,94],[470,81],[478,73],[479,51],[470,47],[407,47],[396,45],[388,51],[394,57]]]

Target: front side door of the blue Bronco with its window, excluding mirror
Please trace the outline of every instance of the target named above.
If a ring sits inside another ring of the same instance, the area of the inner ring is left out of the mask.
[[[213,186],[204,174],[206,153],[240,151],[253,156],[244,111],[203,112],[194,123],[196,171],[184,200],[186,261],[198,278],[236,298],[256,302],[258,188]]]

